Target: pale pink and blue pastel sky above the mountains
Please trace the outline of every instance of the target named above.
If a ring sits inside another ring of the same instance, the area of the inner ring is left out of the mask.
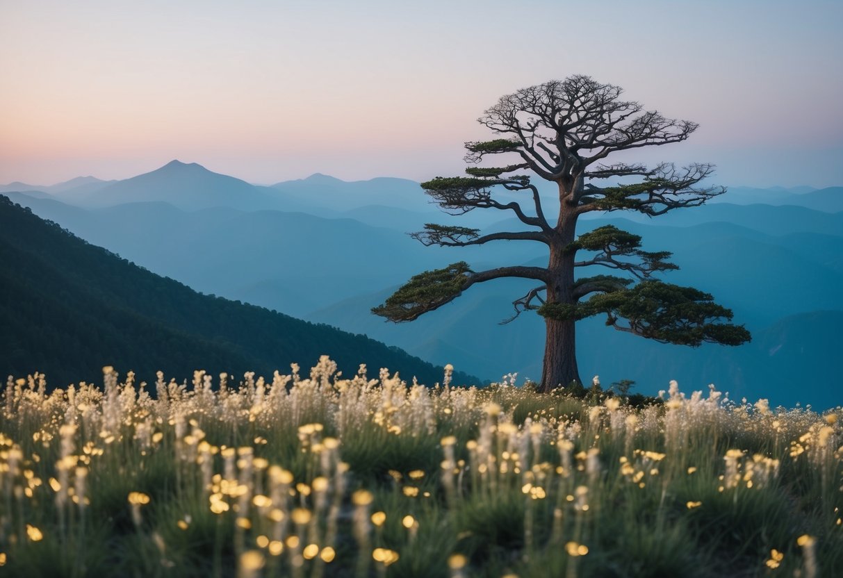
[[[498,97],[582,73],[701,124],[621,160],[843,185],[841,27],[840,0],[0,0],[0,183],[458,174]]]

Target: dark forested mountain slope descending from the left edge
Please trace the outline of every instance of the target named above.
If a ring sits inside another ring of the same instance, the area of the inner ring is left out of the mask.
[[[0,372],[39,371],[48,383],[98,383],[100,368],[133,370],[153,382],[190,380],[197,368],[271,378],[291,362],[330,355],[346,375],[366,363],[419,377],[442,370],[365,336],[201,295],[85,243],[0,196]],[[455,382],[476,383],[459,374]]]

